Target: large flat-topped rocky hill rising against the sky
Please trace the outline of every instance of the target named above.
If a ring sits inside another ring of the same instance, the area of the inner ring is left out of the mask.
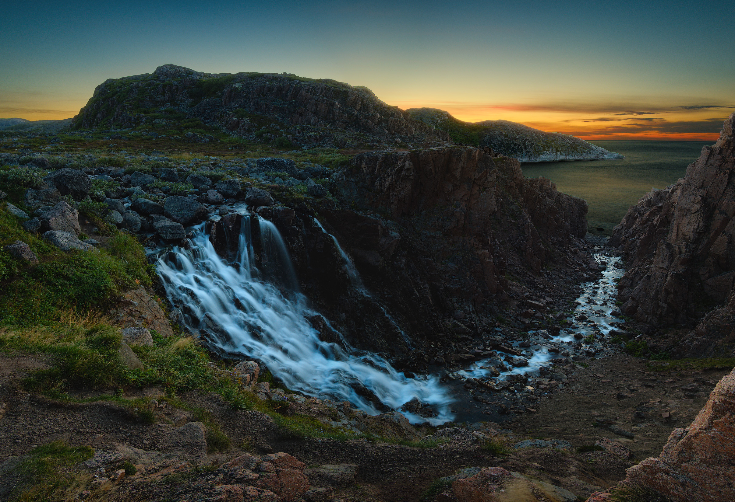
[[[380,101],[367,87],[286,73],[201,73],[176,65],[104,81],[75,125],[137,127],[168,120],[151,109],[169,109],[251,139],[262,131],[295,145],[451,141],[448,134]]]

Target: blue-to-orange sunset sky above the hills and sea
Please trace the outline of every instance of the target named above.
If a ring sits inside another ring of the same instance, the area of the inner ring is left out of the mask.
[[[583,139],[715,140],[733,1],[35,1],[3,7],[0,117],[62,119],[167,63],[294,73]]]

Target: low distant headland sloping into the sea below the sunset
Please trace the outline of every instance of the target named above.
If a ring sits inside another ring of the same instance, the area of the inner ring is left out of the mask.
[[[508,120],[469,123],[435,108],[406,110],[411,117],[446,131],[458,143],[487,146],[521,162],[623,159],[619,153],[568,134],[539,131]]]

